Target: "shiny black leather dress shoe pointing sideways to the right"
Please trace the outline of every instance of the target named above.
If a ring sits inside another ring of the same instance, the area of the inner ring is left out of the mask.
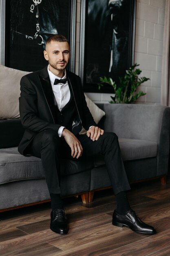
[[[117,227],[129,227],[133,231],[141,234],[156,234],[154,227],[147,225],[137,216],[135,211],[127,211],[125,215],[119,215],[115,210],[112,224]]]

